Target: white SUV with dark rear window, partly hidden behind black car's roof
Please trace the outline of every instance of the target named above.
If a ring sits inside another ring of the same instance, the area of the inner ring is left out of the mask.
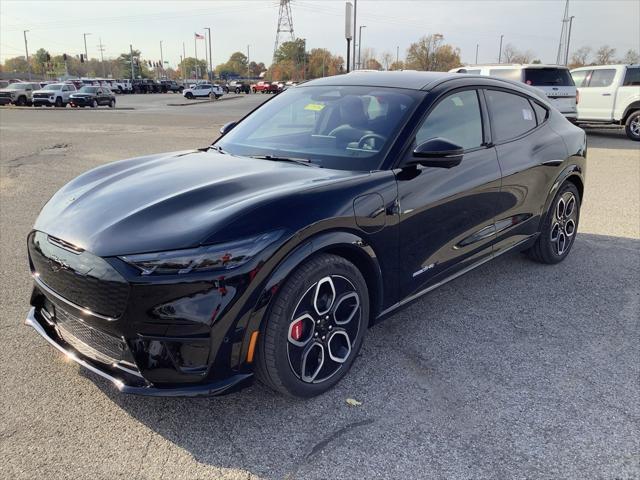
[[[497,65],[468,65],[449,71],[471,75],[491,75],[526,83],[544,93],[551,105],[556,107],[568,120],[575,122],[578,118],[578,90],[567,67],[536,63],[501,63]]]

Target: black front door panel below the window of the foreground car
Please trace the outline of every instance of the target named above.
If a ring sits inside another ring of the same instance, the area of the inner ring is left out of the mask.
[[[466,153],[457,167],[418,167],[397,179],[405,295],[491,255],[500,199],[493,147]]]

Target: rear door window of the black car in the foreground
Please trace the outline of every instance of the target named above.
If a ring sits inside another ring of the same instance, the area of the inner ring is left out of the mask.
[[[526,98],[498,90],[487,90],[486,98],[494,142],[511,140],[536,128],[536,114]]]

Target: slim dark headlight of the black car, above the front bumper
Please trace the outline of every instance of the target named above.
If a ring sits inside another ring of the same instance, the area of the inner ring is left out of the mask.
[[[269,232],[236,242],[189,250],[125,255],[119,258],[139,269],[141,275],[182,275],[208,270],[228,270],[247,263],[281,234],[282,231]]]

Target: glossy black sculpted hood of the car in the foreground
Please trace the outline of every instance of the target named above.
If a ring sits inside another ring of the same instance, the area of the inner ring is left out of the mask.
[[[65,185],[34,228],[99,256],[190,248],[260,204],[352,175],[213,150],[134,158]]]

